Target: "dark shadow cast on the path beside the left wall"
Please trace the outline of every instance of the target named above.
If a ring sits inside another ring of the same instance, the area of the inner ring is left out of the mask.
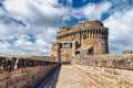
[[[55,88],[60,70],[61,66],[57,67],[47,77],[42,78],[42,80],[34,88]]]

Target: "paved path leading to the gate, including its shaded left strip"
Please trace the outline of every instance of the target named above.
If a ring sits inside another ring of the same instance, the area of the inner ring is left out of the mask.
[[[71,65],[55,69],[37,88],[98,88],[95,82]]]

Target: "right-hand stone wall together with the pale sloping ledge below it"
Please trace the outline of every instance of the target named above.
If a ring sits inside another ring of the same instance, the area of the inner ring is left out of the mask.
[[[88,56],[75,64],[99,88],[133,88],[133,54]]]

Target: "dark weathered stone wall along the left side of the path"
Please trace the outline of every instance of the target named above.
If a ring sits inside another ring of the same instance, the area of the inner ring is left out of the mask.
[[[59,64],[49,56],[0,56],[0,88],[32,88]]]

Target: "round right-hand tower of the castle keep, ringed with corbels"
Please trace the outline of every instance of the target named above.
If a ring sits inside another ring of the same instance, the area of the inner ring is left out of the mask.
[[[108,35],[109,29],[100,21],[85,22],[81,29],[81,46],[92,47],[93,55],[109,54]]]

